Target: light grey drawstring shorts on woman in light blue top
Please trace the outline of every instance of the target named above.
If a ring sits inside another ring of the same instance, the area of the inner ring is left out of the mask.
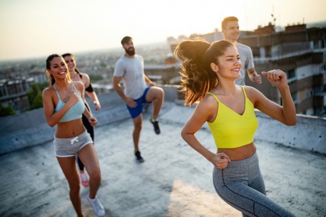
[[[86,130],[73,138],[54,137],[54,152],[58,157],[72,157],[77,155],[81,148],[89,143],[93,143],[93,140]]]

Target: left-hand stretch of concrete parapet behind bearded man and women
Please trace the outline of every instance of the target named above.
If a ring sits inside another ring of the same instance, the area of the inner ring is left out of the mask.
[[[169,102],[178,98],[179,86],[161,87],[165,92],[165,102],[162,108],[162,112],[164,112],[171,107]],[[102,107],[100,111],[95,110],[89,98],[86,99],[94,117],[98,119],[97,127],[130,117],[124,101],[114,91],[98,95],[98,99]],[[151,106],[148,107],[148,110],[151,110]],[[0,123],[0,155],[53,140],[56,130],[56,126],[50,127],[47,124],[43,108],[2,117]]]

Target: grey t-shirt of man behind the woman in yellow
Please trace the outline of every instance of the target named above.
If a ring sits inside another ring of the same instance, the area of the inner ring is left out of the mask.
[[[245,74],[247,74],[247,70],[255,67],[254,58],[252,56],[252,51],[250,47],[241,43],[237,43],[236,47],[240,55],[240,61],[242,62],[242,66],[240,72],[241,77],[235,80],[235,84],[245,85],[244,78]]]

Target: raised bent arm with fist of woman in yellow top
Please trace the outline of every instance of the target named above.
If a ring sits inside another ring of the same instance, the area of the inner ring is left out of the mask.
[[[290,87],[288,85],[285,72],[276,69],[268,72],[262,72],[267,80],[275,85],[282,98],[282,106],[267,99],[261,92],[255,90],[255,108],[263,113],[280,121],[286,125],[296,124],[296,111],[291,96]]]

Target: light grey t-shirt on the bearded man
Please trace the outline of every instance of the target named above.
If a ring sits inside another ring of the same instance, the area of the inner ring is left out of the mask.
[[[124,93],[138,99],[147,88],[144,77],[144,59],[137,54],[133,58],[121,56],[115,63],[113,76],[122,77]]]

